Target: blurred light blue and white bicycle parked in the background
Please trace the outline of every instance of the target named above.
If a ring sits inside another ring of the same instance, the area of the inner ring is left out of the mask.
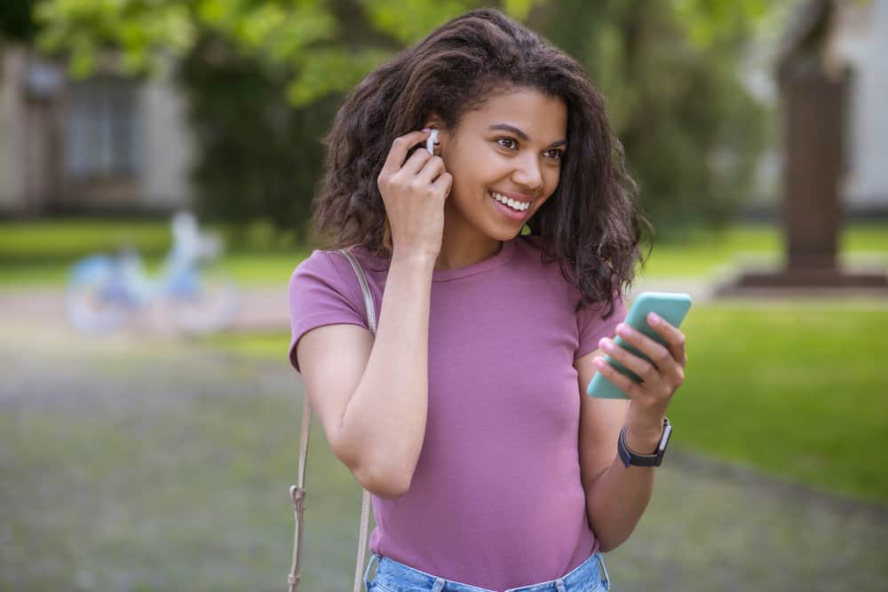
[[[156,304],[163,305],[174,328],[192,335],[218,331],[234,321],[239,290],[213,264],[222,253],[222,241],[202,233],[189,212],[177,213],[171,226],[173,245],[155,279],[132,248],[117,256],[86,257],[74,265],[66,305],[75,328],[107,333]]]

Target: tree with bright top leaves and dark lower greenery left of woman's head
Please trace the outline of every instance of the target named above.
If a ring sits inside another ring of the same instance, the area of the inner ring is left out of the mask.
[[[539,0],[505,0],[523,18]],[[46,51],[75,76],[115,49],[133,75],[176,64],[197,137],[196,206],[307,237],[321,136],[343,93],[477,0],[43,0]]]

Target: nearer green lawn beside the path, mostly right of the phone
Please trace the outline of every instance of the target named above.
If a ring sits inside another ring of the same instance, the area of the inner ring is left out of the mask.
[[[888,473],[861,454],[888,445],[888,308],[706,304],[692,309],[684,329],[690,362],[670,407],[671,446],[888,502]],[[285,363],[289,337],[205,343]]]

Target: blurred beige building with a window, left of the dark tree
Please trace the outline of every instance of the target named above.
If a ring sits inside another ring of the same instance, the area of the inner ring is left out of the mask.
[[[0,68],[0,213],[188,204],[194,142],[169,76],[74,82],[22,46],[0,51]]]

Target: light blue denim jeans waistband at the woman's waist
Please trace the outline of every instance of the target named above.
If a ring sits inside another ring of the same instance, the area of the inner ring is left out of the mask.
[[[370,567],[377,560],[377,572],[369,580]],[[364,572],[368,592],[491,592],[468,584],[445,580],[430,573],[420,572],[385,556],[373,554]],[[600,553],[595,553],[578,565],[573,572],[556,580],[544,581],[506,592],[606,592],[610,589],[607,568]]]

